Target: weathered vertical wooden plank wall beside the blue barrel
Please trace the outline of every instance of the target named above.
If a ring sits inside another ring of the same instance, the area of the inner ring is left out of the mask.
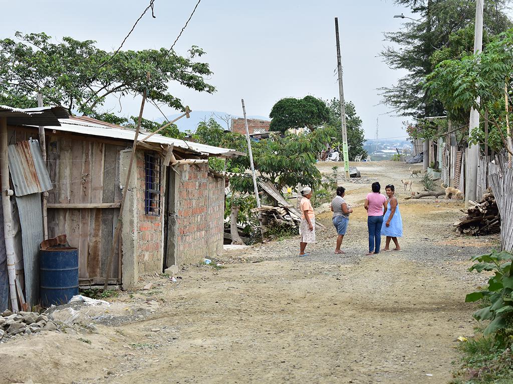
[[[114,203],[121,201],[119,152],[124,146],[52,136],[48,143],[48,169],[54,188],[48,203]],[[105,276],[119,208],[48,209],[50,237],[67,234],[79,249],[81,280],[97,283]],[[121,249],[116,251],[109,279],[121,283]]]

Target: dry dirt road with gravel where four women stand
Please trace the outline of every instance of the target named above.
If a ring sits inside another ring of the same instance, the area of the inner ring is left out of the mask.
[[[404,164],[358,166],[382,185],[409,177]],[[109,298],[65,332],[0,345],[0,384],[448,382],[456,339],[476,326],[465,294],[484,281],[469,258],[497,237],[457,237],[461,202],[400,190],[404,250],[366,257],[370,185],[342,184],[354,207],[343,257],[321,209],[309,257],[297,257],[296,237],[227,251],[223,268],[189,266],[177,282],[146,276],[151,289]]]

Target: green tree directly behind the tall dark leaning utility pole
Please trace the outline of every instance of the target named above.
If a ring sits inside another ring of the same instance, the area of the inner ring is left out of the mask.
[[[329,125],[337,130],[337,140],[342,142],[342,122],[340,120],[340,101],[337,98],[326,101],[329,108]],[[367,151],[363,148],[365,142],[365,133],[362,128],[362,119],[356,114],[354,104],[346,102],[346,127],[347,127],[347,144],[349,146],[349,159],[357,156],[367,155]]]

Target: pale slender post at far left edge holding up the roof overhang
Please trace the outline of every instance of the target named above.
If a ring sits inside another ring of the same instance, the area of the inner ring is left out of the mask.
[[[16,271],[14,270],[14,240],[12,237],[12,212],[11,196],[9,188],[9,162],[7,151],[7,117],[0,117],[0,172],[2,172],[2,208],[4,211],[4,237],[5,250],[7,253],[7,272],[9,275],[9,294],[11,306],[14,312],[18,311],[18,300],[16,296]]]

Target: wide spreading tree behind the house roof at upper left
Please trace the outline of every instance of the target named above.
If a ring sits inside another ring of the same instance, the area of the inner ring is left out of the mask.
[[[20,108],[37,106],[37,92],[46,104],[64,105],[70,112],[116,120],[101,113],[107,97],[141,94],[147,100],[175,109],[182,101],[169,92],[169,82],[200,92],[215,88],[205,80],[212,72],[208,63],[197,61],[205,52],[196,46],[188,57],[166,48],[110,53],[95,47],[95,41],[64,37],[60,43],[45,33],[22,34],[0,40],[0,103]],[[146,84],[146,73],[151,77]]]

